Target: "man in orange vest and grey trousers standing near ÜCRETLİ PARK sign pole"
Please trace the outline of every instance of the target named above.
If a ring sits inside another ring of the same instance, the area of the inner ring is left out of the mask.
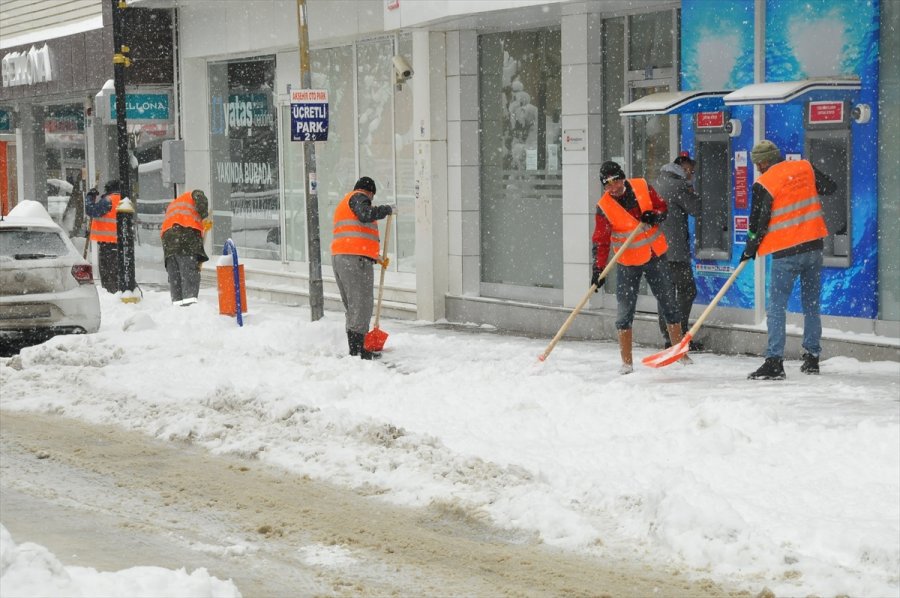
[[[331,260],[334,278],[344,304],[345,328],[350,355],[373,359],[378,353],[366,350],[364,344],[372,319],[375,273],[373,266],[380,261],[381,239],[376,221],[397,213],[391,205],[373,206],[375,181],[364,176],[353,191],[334,210],[334,236],[331,241]]]

